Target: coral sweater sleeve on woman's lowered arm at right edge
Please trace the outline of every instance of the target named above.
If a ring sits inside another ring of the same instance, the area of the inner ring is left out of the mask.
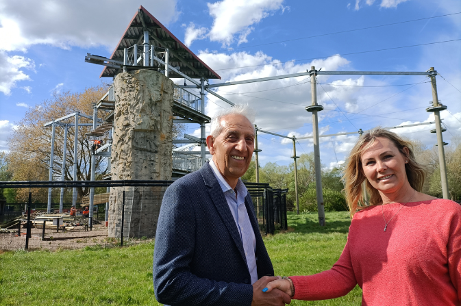
[[[456,212],[451,219],[447,254],[451,283],[458,292],[458,300],[461,301],[461,209],[456,209]]]

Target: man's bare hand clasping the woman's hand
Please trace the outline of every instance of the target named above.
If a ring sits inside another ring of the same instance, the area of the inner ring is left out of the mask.
[[[277,279],[279,277],[261,277],[256,283],[253,283],[253,301],[251,301],[251,306],[284,306],[291,303],[290,296],[281,290],[273,288],[271,292],[262,292],[266,288],[267,283]]]

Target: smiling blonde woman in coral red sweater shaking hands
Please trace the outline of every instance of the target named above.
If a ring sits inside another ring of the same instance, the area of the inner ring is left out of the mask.
[[[412,146],[373,129],[345,170],[351,227],[331,270],[268,283],[299,300],[344,296],[356,284],[362,305],[461,305],[461,206],[421,193]],[[364,201],[366,179],[369,204]]]

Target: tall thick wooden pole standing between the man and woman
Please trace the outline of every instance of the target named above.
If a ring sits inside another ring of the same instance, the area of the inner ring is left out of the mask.
[[[312,112],[312,132],[314,140],[314,162],[315,162],[315,189],[317,194],[317,209],[319,210],[319,225],[325,226],[325,205],[323,205],[323,194],[322,194],[322,171],[320,164],[320,146],[319,146],[319,117],[317,112],[323,110],[322,105],[317,104],[317,86],[316,86],[316,75],[317,71],[315,67],[310,67],[310,88],[312,90],[312,104],[306,107],[308,112]]]

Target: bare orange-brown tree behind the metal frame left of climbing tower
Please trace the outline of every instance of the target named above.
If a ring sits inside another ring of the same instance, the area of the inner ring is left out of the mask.
[[[87,88],[84,92],[54,92],[49,100],[30,108],[25,113],[22,120],[16,123],[17,128],[14,129],[12,137],[8,140],[10,149],[10,168],[13,171],[13,180],[17,181],[47,181],[49,173],[49,161],[51,151],[51,125],[44,127],[47,122],[53,121],[62,116],[72,114],[73,112],[81,112],[92,116],[92,105],[97,103],[101,97],[107,92],[108,85],[101,84]],[[107,116],[105,110],[97,112],[98,118]],[[53,180],[61,179],[61,169],[64,158],[66,166],[64,168],[64,180],[72,181],[77,177],[77,181],[90,180],[91,169],[91,146],[92,142],[86,133],[91,131],[91,126],[78,127],[77,140],[77,173],[73,173],[73,148],[74,148],[74,120],[68,118],[62,120],[61,123],[68,123],[72,126],[68,128],[67,150],[63,155],[64,145],[64,127],[56,125],[55,127],[55,146],[53,159]],[[79,123],[92,123],[91,119],[79,117]],[[184,131],[184,125],[173,125],[174,136]],[[103,142],[107,142],[108,133],[105,134]],[[101,177],[108,173],[108,163],[104,157],[97,156],[95,162],[96,177]],[[78,196],[81,198],[84,194],[88,194],[88,188],[77,188]],[[42,199],[46,201],[47,190],[33,190],[34,199]],[[16,198],[18,201],[27,199],[28,190],[18,190]]]

